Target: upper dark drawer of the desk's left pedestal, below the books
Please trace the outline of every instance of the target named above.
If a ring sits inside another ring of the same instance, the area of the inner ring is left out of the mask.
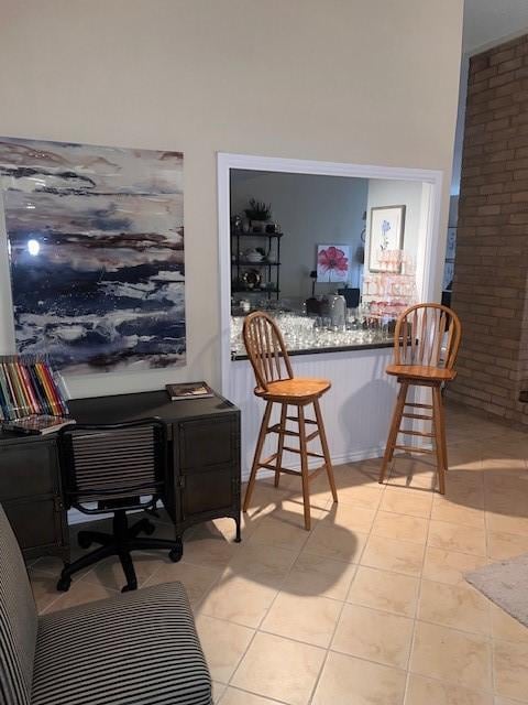
[[[0,446],[0,502],[35,495],[57,495],[58,490],[54,441]]]

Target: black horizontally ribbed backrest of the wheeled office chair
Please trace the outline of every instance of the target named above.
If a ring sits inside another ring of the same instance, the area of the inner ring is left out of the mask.
[[[166,427],[158,419],[64,426],[58,448],[68,503],[86,513],[103,511],[86,507],[94,501],[141,507],[139,498],[158,496],[166,476]]]

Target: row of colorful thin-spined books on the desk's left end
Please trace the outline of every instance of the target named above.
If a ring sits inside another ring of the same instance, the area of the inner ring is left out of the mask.
[[[33,414],[66,416],[68,406],[47,360],[0,356],[0,421]]]

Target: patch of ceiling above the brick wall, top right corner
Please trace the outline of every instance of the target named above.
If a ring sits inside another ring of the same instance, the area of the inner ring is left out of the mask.
[[[465,0],[464,53],[487,48],[528,31],[528,0]]]

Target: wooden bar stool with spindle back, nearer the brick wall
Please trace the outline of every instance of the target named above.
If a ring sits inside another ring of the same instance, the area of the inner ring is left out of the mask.
[[[441,495],[446,494],[448,447],[441,390],[442,384],[457,376],[453,367],[460,337],[459,317],[451,308],[440,304],[417,304],[404,311],[396,322],[394,362],[387,367],[386,372],[397,377],[400,387],[383,456],[380,482],[385,480],[395,451],[436,453],[439,490]],[[432,403],[408,403],[407,393],[410,386],[429,387]],[[413,411],[407,412],[407,408],[411,408]],[[431,432],[402,429],[403,419],[430,421]],[[431,438],[435,442],[435,451],[421,446],[399,445],[399,433]]]

